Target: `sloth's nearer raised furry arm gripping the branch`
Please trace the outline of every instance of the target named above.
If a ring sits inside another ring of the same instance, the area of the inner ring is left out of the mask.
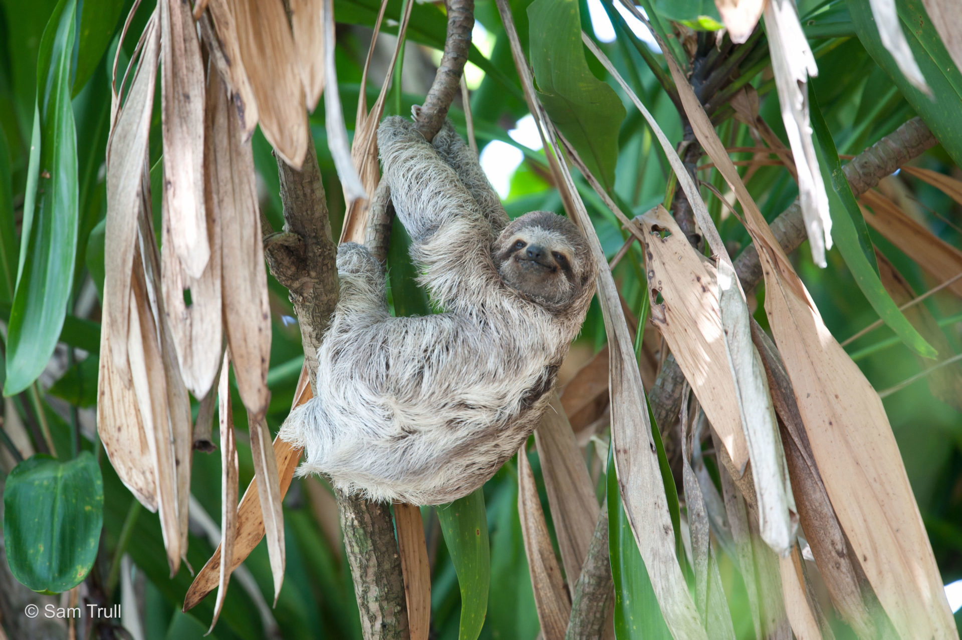
[[[454,169],[402,117],[377,130],[384,176],[397,217],[413,241],[411,257],[435,302],[452,309],[490,301],[494,231]]]

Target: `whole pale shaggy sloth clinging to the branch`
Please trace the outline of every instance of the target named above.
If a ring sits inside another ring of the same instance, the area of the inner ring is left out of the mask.
[[[377,142],[418,282],[443,313],[393,318],[381,264],[342,243],[317,394],[280,436],[304,448],[300,475],[367,499],[441,504],[484,484],[537,426],[595,266],[568,218],[509,221],[449,121],[428,142],[388,117]]]

